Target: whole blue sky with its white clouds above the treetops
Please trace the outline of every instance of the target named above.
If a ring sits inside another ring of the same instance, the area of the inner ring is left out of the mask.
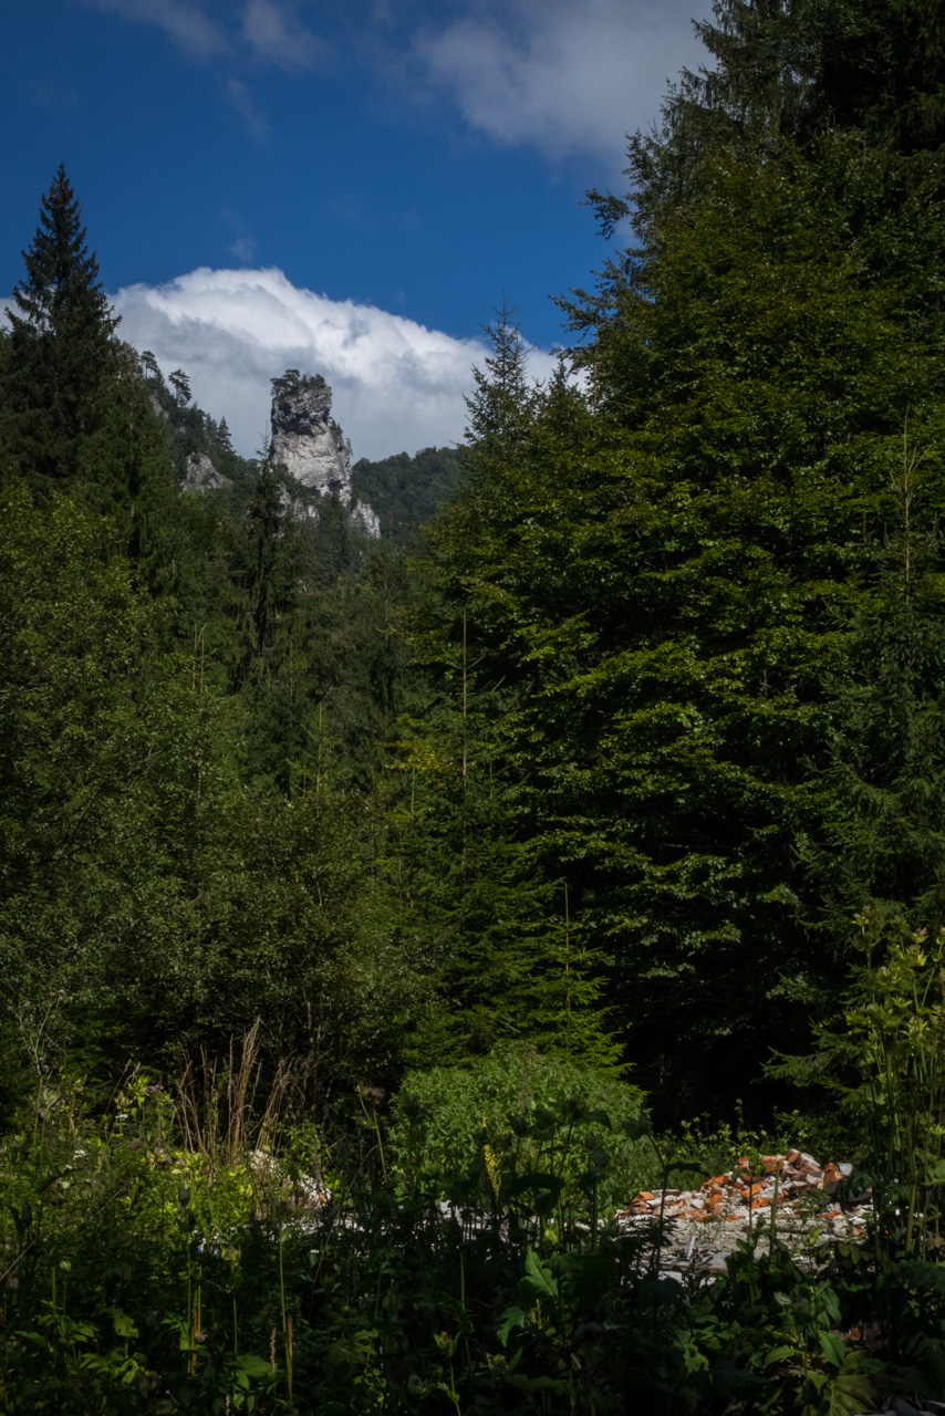
[[[65,161],[122,333],[242,450],[286,362],[326,374],[356,456],[455,440],[503,289],[548,367],[548,295],[605,255],[584,190],[619,185],[707,10],[0,0],[0,292]]]

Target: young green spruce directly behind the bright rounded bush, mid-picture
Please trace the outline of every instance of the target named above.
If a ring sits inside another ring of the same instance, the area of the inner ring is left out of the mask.
[[[601,959],[572,935],[567,885],[537,878],[510,831],[490,722],[503,700],[480,692],[462,620],[451,627],[432,700],[424,680],[408,698],[381,797],[388,901],[404,936],[424,940],[431,969],[412,1061],[463,1061],[497,1039],[527,1039],[613,1066]]]

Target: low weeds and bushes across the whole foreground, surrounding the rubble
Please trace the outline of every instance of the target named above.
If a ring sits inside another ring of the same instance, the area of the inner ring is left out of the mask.
[[[507,1052],[290,1124],[288,1073],[256,1104],[252,1035],[105,1110],[44,1076],[0,1146],[0,1410],[851,1416],[941,1393],[941,961],[870,935],[832,1035],[877,1206],[816,1270],[759,1225],[724,1273],[667,1276],[660,1225],[615,1216],[626,1187],[810,1140],[798,1116],[655,1136],[633,1087]]]

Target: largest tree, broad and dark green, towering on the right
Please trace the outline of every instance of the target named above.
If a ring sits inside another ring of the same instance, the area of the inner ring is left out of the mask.
[[[687,1106],[742,1095],[734,1049],[798,1022],[786,980],[832,986],[799,860],[832,810],[825,678],[904,421],[945,396],[941,161],[809,116],[827,10],[717,7],[721,69],[632,144],[633,202],[598,198],[638,241],[568,306],[591,408],[562,418],[555,388],[435,538],[443,636],[462,605],[509,695],[510,831],[608,954],[645,1082]],[[929,514],[944,491],[929,473]]]

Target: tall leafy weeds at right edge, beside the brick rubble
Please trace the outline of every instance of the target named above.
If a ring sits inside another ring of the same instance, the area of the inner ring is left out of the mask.
[[[880,910],[857,918],[857,957],[840,1011],[816,1029],[816,1052],[772,1070],[827,1090],[859,1138],[847,1182],[871,1188],[864,1246],[840,1246],[832,1279],[853,1321],[874,1323],[898,1366],[894,1379],[941,1388],[942,1042],[945,933],[928,940]],[[919,1375],[921,1374],[921,1375]]]

